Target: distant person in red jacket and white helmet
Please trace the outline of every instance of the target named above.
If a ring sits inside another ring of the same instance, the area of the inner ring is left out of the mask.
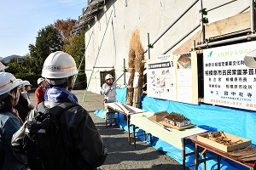
[[[38,88],[35,91],[36,105],[44,101],[44,94],[46,91],[46,82],[43,77],[38,78]]]

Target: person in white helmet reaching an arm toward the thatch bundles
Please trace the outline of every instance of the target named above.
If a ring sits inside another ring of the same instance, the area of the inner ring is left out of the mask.
[[[113,82],[113,76],[111,74],[106,75],[105,82],[102,85],[102,94],[104,94],[104,104],[116,102],[116,88],[125,88],[125,85],[117,84]],[[108,109],[106,113],[107,126],[114,126],[114,115],[116,111]]]

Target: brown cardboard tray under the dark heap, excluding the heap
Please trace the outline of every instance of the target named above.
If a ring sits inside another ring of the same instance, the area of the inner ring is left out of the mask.
[[[149,116],[148,119],[150,119],[154,122],[158,122],[165,127],[171,127],[171,128],[177,129],[177,130],[184,130],[186,128],[191,128],[191,127],[196,126],[195,124],[192,124],[192,123],[190,123],[189,125],[184,126],[184,127],[172,126],[172,125],[166,123],[165,118],[163,118],[164,116],[166,116],[168,114],[169,113],[167,111],[160,111],[160,112],[155,113],[153,116]]]

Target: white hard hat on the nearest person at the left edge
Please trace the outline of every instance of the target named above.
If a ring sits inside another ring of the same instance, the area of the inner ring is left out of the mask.
[[[9,72],[0,72],[0,95],[9,94],[9,92],[20,85],[15,76]]]

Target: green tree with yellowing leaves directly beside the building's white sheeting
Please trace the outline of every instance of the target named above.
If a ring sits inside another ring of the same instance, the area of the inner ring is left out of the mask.
[[[84,31],[81,31],[79,35],[73,35],[69,38],[69,41],[63,45],[63,51],[73,56],[76,61],[77,67],[84,57]],[[84,62],[80,66],[80,70],[84,69]]]

